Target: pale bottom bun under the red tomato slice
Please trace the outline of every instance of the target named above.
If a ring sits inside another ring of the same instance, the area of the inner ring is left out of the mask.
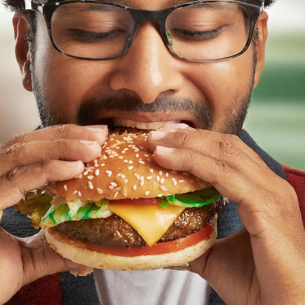
[[[62,257],[71,261],[98,269],[108,270],[151,270],[172,266],[182,266],[193,261],[206,252],[214,243],[217,236],[217,216],[213,219],[213,233],[206,240],[200,241],[196,245],[184,248],[182,250],[157,254],[125,257],[108,254],[97,250],[91,250],[84,247],[78,247],[73,243],[66,243],[60,239],[60,234],[51,234],[45,230],[45,236],[48,243]]]

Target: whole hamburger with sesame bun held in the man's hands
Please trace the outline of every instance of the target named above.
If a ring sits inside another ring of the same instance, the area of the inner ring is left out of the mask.
[[[79,176],[27,193],[17,209],[61,256],[85,266],[148,270],[194,260],[213,244],[224,200],[189,172],[161,168],[147,136],[111,132]]]

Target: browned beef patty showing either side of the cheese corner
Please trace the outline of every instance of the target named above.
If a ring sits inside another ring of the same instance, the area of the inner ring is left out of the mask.
[[[161,237],[160,241],[186,237],[203,229],[224,206],[220,197],[215,202],[201,208],[187,208],[172,223],[172,226]],[[113,214],[107,218],[66,221],[54,227],[71,240],[92,242],[115,247],[145,247],[146,242],[122,218]]]

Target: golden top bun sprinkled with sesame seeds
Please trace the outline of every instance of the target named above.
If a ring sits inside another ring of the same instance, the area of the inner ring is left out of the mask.
[[[135,129],[110,133],[100,156],[88,163],[84,172],[48,188],[67,201],[98,201],[153,198],[210,187],[189,172],[160,167],[146,147],[147,136],[147,132]]]

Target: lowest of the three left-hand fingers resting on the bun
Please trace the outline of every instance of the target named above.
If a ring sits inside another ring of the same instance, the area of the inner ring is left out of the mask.
[[[28,191],[41,188],[52,181],[75,178],[83,170],[82,161],[59,160],[15,168],[0,176],[0,210],[19,202]]]

